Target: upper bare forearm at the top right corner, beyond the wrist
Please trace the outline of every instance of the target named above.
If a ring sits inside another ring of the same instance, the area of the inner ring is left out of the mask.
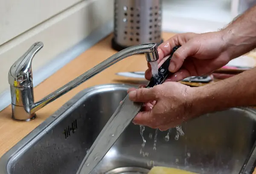
[[[231,59],[256,48],[256,6],[237,17],[221,32]]]

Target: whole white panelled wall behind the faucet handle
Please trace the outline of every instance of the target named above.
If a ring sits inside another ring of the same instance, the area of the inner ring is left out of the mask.
[[[0,0],[0,94],[9,90],[9,68],[35,41],[44,48],[33,71],[110,20],[113,0]]]

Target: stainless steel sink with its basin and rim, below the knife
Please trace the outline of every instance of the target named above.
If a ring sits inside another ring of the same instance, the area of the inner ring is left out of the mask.
[[[125,84],[85,89],[0,158],[0,174],[76,174],[87,150],[127,95]],[[249,174],[255,165],[256,112],[231,108],[209,113],[177,131],[130,124],[93,174],[146,174],[153,165],[200,174]],[[167,133],[169,132],[169,141]]]

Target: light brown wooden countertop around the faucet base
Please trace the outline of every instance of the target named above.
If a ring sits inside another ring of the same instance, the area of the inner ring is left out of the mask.
[[[163,38],[166,40],[173,35],[175,34],[163,33]],[[49,93],[57,90],[59,87],[62,87],[64,84],[81,75],[86,70],[89,70],[96,64],[99,64],[106,58],[115,54],[116,51],[111,48],[111,38],[112,35],[109,35],[35,87],[35,101],[38,101]],[[146,69],[147,62],[144,55],[134,55],[119,61],[104,70],[102,73],[99,73],[84,82],[79,87],[76,87],[64,96],[61,96],[59,99],[48,104],[41,110],[38,110],[36,112],[37,118],[30,122],[16,122],[12,120],[11,107],[7,107],[0,112],[0,157],[81,90],[94,85],[119,83],[119,81],[130,79],[115,75],[115,73],[118,72],[145,71]]]

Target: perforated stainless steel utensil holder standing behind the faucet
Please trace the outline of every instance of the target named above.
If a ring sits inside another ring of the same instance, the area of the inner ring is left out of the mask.
[[[163,42],[162,0],[115,0],[114,10],[113,49]]]

